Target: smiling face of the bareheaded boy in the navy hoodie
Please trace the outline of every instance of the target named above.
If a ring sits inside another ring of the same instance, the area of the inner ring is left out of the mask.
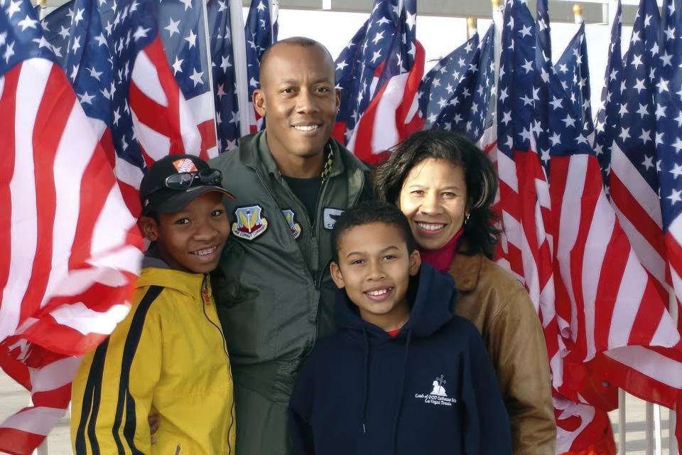
[[[339,262],[332,279],[345,288],[362,319],[386,331],[400,328],[409,317],[409,277],[419,270],[419,252],[408,252],[401,230],[386,223],[368,223],[343,232]]]

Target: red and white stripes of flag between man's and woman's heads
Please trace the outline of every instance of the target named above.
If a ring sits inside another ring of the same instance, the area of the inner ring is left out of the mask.
[[[381,87],[348,141],[347,148],[369,164],[377,164],[385,151],[423,127],[424,120],[418,114],[418,88],[424,75],[426,54],[419,41],[415,47],[412,68],[407,73],[391,77]],[[377,68],[377,73],[380,72],[381,67]],[[376,82],[377,77],[374,84]]]

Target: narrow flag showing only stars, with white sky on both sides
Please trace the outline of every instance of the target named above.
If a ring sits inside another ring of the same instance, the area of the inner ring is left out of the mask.
[[[556,65],[556,75],[561,81],[563,90],[568,93],[570,102],[583,112],[583,136],[592,143],[595,125],[592,123],[592,107],[590,105],[590,68],[588,66],[588,43],[585,41],[585,23],[581,23],[578,31],[566,46]]]

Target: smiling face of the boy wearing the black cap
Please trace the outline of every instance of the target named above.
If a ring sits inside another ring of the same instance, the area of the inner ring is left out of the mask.
[[[168,267],[190,273],[208,273],[217,267],[229,235],[222,193],[203,193],[178,213],[157,216],[158,222],[143,217],[141,227],[145,237],[156,242],[158,256]]]

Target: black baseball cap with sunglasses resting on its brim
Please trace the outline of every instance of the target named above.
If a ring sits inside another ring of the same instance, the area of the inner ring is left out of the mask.
[[[142,213],[177,213],[209,191],[234,199],[221,185],[222,173],[198,156],[164,156],[147,169],[140,183]]]

